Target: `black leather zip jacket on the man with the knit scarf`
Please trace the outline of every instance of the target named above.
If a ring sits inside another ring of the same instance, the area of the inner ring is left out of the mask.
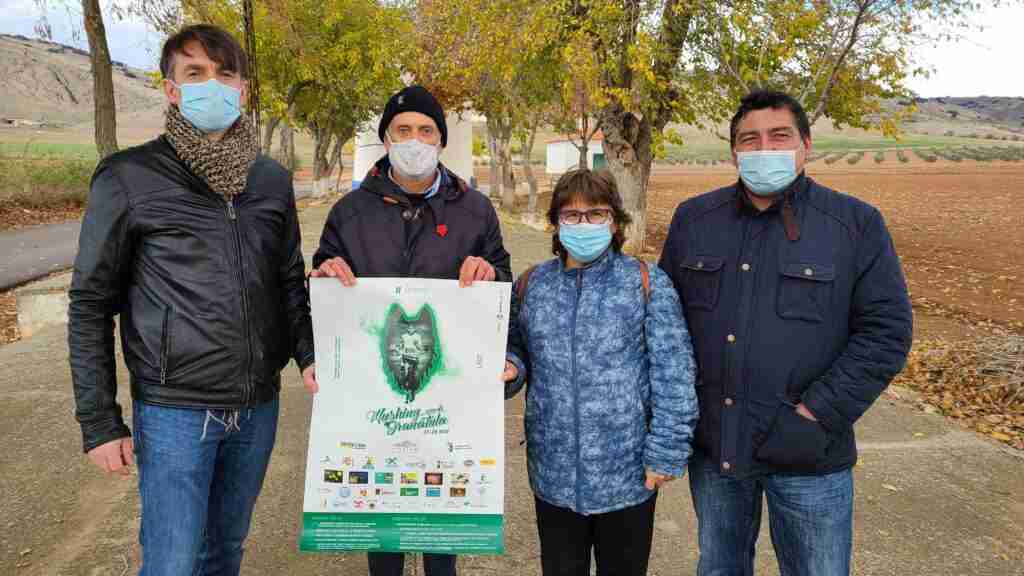
[[[267,402],[313,362],[291,174],[259,157],[230,203],[164,137],[96,168],[70,292],[76,417],[88,452],[129,435],[117,404],[114,317],[132,398],[163,406]]]

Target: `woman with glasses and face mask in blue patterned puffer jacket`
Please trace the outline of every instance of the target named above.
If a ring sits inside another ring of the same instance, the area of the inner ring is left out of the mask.
[[[529,483],[545,576],[647,571],[657,488],[683,475],[694,361],[671,280],[622,253],[630,223],[607,172],[555,186],[557,257],[515,285]],[[648,272],[649,271],[649,272]]]

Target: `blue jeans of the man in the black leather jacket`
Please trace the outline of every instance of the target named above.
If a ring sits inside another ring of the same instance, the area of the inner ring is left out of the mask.
[[[237,576],[278,430],[278,400],[241,410],[134,402],[139,576]]]

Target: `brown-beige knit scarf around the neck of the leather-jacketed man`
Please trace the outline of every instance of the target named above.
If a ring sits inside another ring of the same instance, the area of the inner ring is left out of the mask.
[[[248,116],[240,116],[217,141],[185,120],[176,106],[167,108],[166,127],[167,139],[185,166],[214,192],[230,200],[245,191],[249,167],[259,154]]]

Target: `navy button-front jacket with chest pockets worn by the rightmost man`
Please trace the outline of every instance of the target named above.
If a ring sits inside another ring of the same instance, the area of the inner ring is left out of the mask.
[[[738,186],[679,206],[662,254],[696,353],[699,454],[728,476],[823,475],[902,369],[910,298],[879,211],[801,177],[758,212]],[[804,403],[818,421],[796,414]]]

